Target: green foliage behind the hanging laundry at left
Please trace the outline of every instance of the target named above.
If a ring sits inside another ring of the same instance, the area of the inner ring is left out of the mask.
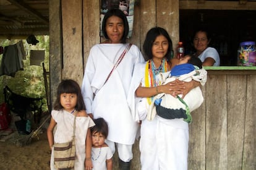
[[[23,70],[17,71],[15,77],[0,76],[0,103],[4,103],[3,89],[7,85],[18,95],[43,98],[43,111],[48,111],[43,66],[30,66],[30,50],[45,50],[45,69],[49,71],[49,36],[36,36],[36,40],[39,43],[35,46],[28,45],[26,40],[22,40],[25,53],[27,54],[26,59],[23,60]],[[20,40],[0,40],[0,46],[14,45],[18,41]],[[2,54],[0,55],[0,63],[1,61]]]

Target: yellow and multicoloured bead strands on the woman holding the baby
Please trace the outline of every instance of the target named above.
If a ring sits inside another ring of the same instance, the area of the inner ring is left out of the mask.
[[[163,59],[160,67],[158,69],[155,68],[155,64],[153,60],[148,60],[145,67],[145,87],[156,87],[158,82],[156,81],[156,76],[160,74],[160,72],[167,72],[168,70],[168,62],[166,59]],[[153,96],[147,98],[148,104],[151,104],[153,101]]]

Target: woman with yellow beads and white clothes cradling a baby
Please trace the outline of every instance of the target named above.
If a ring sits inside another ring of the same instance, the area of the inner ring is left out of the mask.
[[[140,97],[137,104],[137,119],[142,121],[140,130],[140,162],[142,170],[186,170],[189,144],[189,126],[183,119],[164,119],[157,114],[146,118],[153,97],[160,93],[177,96],[186,94],[200,83],[194,80],[162,84],[158,75],[168,72],[179,60],[172,57],[173,43],[164,28],[151,28],[145,38],[143,50],[148,57],[145,64],[134,69],[132,87]],[[168,72],[169,74],[169,72]]]

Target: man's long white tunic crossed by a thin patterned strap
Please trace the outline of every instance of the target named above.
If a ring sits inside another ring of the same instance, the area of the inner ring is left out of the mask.
[[[128,94],[134,66],[144,60],[137,46],[131,46],[108,82],[103,85],[127,45],[99,44],[92,47],[85,67],[82,95],[87,113],[92,113],[95,119],[103,117],[108,122],[107,139],[132,145],[138,124],[132,119]]]

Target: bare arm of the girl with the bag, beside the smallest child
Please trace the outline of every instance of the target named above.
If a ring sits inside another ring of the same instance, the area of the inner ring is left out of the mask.
[[[85,140],[85,169],[93,168],[92,164],[92,135],[91,130],[88,128]]]

